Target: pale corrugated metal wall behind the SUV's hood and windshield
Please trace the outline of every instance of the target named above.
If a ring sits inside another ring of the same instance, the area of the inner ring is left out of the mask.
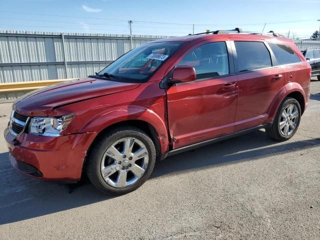
[[[132,47],[164,37],[133,35]],[[124,34],[0,30],[0,83],[87,76],[129,50]]]

